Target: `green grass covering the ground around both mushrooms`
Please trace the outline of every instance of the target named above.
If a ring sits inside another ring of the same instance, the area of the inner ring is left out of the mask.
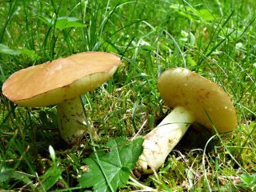
[[[167,68],[186,67],[218,83],[234,103],[237,129],[205,141],[190,129],[157,174],[135,180],[158,191],[255,190],[254,0],[13,0],[0,2],[0,9],[0,43],[21,51],[0,50],[1,85],[14,71],[82,51],[122,58],[114,78],[82,96],[96,147],[132,138],[143,123],[144,135],[162,120],[169,109],[157,79]],[[78,20],[63,28],[61,17]],[[78,176],[91,138],[63,145],[54,106],[23,108],[1,94],[0,109],[0,189],[81,190]],[[140,189],[130,181],[120,191]]]

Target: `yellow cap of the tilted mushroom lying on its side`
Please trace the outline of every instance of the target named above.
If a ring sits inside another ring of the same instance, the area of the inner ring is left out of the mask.
[[[234,130],[237,116],[228,94],[214,82],[184,69],[164,71],[158,78],[158,90],[167,106],[186,107],[195,122],[219,133]]]

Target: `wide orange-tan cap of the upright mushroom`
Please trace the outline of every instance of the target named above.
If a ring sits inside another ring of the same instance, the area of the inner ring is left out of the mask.
[[[18,70],[4,82],[2,93],[21,106],[50,106],[94,90],[121,64],[116,54],[84,52]]]

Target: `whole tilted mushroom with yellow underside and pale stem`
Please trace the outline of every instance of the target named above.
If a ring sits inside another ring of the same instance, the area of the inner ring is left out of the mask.
[[[164,71],[158,78],[158,90],[167,106],[174,110],[146,134],[137,171],[153,173],[166,160],[189,126],[197,122],[214,132],[234,130],[237,117],[228,94],[214,82],[184,69]]]

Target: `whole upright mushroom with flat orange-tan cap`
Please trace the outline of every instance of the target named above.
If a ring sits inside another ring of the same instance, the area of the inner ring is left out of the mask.
[[[2,93],[20,106],[57,105],[58,130],[67,143],[86,131],[80,95],[113,76],[121,63],[116,54],[85,52],[18,70],[4,82]]]

